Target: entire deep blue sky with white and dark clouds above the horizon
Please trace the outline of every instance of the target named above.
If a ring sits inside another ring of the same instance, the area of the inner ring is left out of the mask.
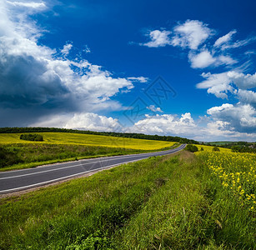
[[[0,0],[0,127],[256,141],[255,9]]]

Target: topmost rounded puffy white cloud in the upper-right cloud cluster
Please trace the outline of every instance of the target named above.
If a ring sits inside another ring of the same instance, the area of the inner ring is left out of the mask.
[[[173,30],[173,46],[189,47],[190,49],[198,49],[198,46],[213,34],[212,29],[209,29],[206,24],[198,20],[187,20]]]

